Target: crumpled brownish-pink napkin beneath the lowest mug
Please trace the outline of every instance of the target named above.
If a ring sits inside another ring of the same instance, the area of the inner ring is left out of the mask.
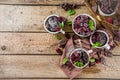
[[[81,41],[82,43],[80,43]],[[70,78],[73,79],[78,74],[82,72],[81,69],[74,67],[71,62],[67,62],[66,64],[62,64],[63,59],[69,55],[70,51],[75,48],[80,48],[82,44],[85,49],[90,49],[90,43],[86,39],[80,39],[77,35],[73,35],[67,42],[65,48],[63,49],[63,55],[61,56],[60,60],[60,67],[65,72],[65,74]]]

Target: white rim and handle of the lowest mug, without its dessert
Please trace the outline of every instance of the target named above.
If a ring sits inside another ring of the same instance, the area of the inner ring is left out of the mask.
[[[72,61],[71,59],[70,59],[70,62],[72,63],[72,65],[73,65],[74,67],[79,68],[79,69],[83,69],[83,68],[85,68],[85,67],[89,64],[89,61],[90,61],[90,53],[92,53],[93,50],[87,51],[87,50],[85,50],[85,49],[83,49],[83,48],[76,48],[76,49],[74,49],[74,50],[72,50],[72,51],[70,52],[70,54],[69,54],[68,57],[71,57],[71,55],[74,54],[74,52],[76,52],[76,51],[84,51],[85,54],[87,54],[87,56],[88,56],[88,61],[87,61],[87,63],[85,63],[84,66],[82,66],[82,67],[78,67],[78,66],[76,66],[75,64],[73,64],[73,61]],[[80,54],[80,53],[79,53],[79,54]]]

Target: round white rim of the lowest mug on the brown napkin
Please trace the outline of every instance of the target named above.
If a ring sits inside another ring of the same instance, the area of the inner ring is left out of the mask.
[[[70,62],[72,63],[72,65],[73,65],[74,67],[79,68],[79,69],[83,69],[83,68],[85,68],[85,67],[89,64],[90,55],[89,55],[89,53],[87,52],[87,50],[85,50],[85,49],[83,49],[83,48],[76,48],[76,49],[74,49],[73,51],[70,52],[69,56],[71,56],[71,55],[72,55],[75,51],[77,51],[77,50],[83,50],[83,51],[85,51],[85,53],[88,55],[88,62],[87,62],[84,66],[82,66],[82,67],[75,66],[75,65],[73,64],[73,62],[72,62],[71,59],[70,59]]]

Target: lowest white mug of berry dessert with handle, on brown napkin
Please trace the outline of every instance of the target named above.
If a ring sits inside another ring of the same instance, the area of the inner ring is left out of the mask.
[[[92,52],[92,50],[87,51],[83,48],[76,48],[70,52],[68,57],[74,67],[83,69],[89,64],[90,53]]]

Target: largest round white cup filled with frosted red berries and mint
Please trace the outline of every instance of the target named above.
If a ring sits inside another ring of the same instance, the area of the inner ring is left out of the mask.
[[[96,21],[89,14],[80,14],[72,22],[72,29],[80,37],[88,37],[96,30]]]

